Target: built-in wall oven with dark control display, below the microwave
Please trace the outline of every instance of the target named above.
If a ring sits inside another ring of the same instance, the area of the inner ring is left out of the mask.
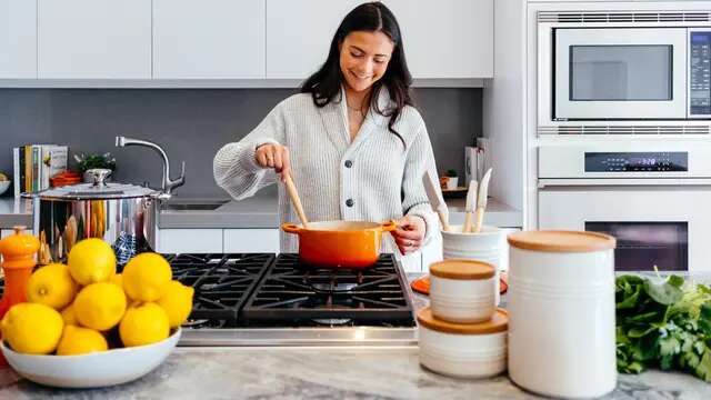
[[[617,270],[711,271],[711,144],[594,141],[539,148],[540,229],[618,239]]]

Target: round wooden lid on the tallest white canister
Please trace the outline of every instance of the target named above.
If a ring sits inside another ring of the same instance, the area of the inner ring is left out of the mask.
[[[523,231],[509,234],[514,248],[548,252],[590,252],[614,249],[613,237],[587,231]]]

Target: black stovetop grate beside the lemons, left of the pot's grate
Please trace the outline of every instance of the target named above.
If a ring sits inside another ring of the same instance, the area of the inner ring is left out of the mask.
[[[272,253],[163,254],[173,279],[194,288],[190,320],[237,321],[240,310],[271,266]]]

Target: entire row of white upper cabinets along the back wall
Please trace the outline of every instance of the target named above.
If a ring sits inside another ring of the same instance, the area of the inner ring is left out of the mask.
[[[492,78],[493,1],[384,0],[413,78]],[[0,0],[0,80],[292,86],[321,67],[339,23],[363,2]]]

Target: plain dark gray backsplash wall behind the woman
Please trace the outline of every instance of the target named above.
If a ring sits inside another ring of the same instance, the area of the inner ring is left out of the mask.
[[[0,171],[11,173],[13,147],[68,144],[71,153],[110,151],[121,182],[160,183],[159,157],[114,147],[116,136],[163,146],[172,174],[186,161],[181,197],[227,197],[212,178],[212,158],[249,133],[288,89],[0,89]],[[438,169],[463,173],[463,147],[481,136],[481,89],[415,89]],[[71,160],[70,167],[74,162]],[[9,194],[9,192],[7,193]]]

